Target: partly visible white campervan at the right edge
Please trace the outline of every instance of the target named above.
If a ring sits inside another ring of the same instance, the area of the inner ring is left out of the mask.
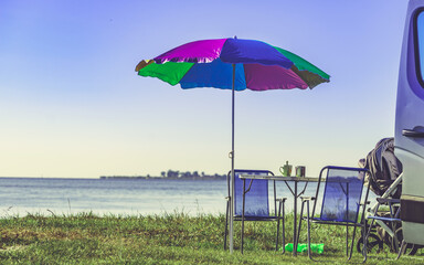
[[[395,155],[403,165],[403,239],[424,245],[424,0],[411,0],[399,72]]]

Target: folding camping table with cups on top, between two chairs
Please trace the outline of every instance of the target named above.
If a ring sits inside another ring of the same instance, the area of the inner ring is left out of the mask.
[[[312,178],[312,177],[283,177],[283,176],[261,176],[261,174],[242,174],[240,176],[240,178],[243,180],[243,187],[246,187],[245,186],[245,181],[246,179],[250,179],[251,180],[251,183],[253,180],[255,179],[266,179],[266,180],[275,180],[275,181],[284,181],[288,188],[288,190],[292,192],[292,195],[293,195],[293,211],[294,211],[294,227],[293,227],[293,255],[294,256],[297,256],[297,243],[298,243],[298,239],[297,239],[297,199],[305,193],[306,191],[306,188],[308,187],[308,183],[309,182],[318,182],[318,178]],[[292,189],[292,187],[288,184],[288,182],[293,182],[294,183],[294,189]],[[305,182],[305,186],[304,186],[304,189],[298,192],[298,183],[299,182]],[[247,186],[250,187],[250,184]],[[245,193],[245,191],[243,191],[243,194]],[[244,200],[243,200],[243,203],[244,203]],[[244,205],[243,205],[244,208]],[[284,247],[284,246],[283,246]]]

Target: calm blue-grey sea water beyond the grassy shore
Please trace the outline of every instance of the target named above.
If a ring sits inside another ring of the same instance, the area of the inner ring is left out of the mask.
[[[299,184],[299,189],[303,184]],[[309,183],[305,194],[315,194]],[[293,197],[284,183],[277,194]],[[225,180],[0,178],[0,218],[41,215],[225,214]]]

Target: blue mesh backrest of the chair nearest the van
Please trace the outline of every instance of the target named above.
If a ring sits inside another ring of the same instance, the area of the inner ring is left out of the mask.
[[[322,221],[357,223],[367,172],[369,170],[363,168],[324,168],[319,174],[320,181],[317,189],[318,195],[319,186],[321,181],[325,181],[319,219]],[[369,189],[367,189],[364,200],[367,200],[368,193]],[[317,203],[319,203],[318,200],[314,205],[314,212]]]

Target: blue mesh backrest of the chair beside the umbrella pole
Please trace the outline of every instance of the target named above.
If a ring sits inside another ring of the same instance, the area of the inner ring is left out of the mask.
[[[273,174],[267,170],[234,170],[234,214],[243,214],[243,180],[241,174]],[[230,172],[231,177],[231,172]],[[245,189],[248,189],[250,180],[246,180]],[[275,187],[274,187],[275,192]],[[275,197],[275,193],[274,193]],[[276,208],[276,204],[275,204]],[[251,189],[245,195],[245,216],[268,218],[269,216],[269,199],[268,199],[268,180],[255,179],[252,181]]]

